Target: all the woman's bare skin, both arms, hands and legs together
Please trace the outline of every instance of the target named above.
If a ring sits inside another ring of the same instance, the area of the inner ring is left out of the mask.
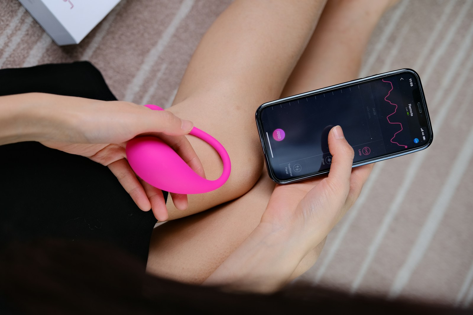
[[[0,144],[39,141],[107,165],[140,208],[152,208],[159,221],[197,213],[154,230],[148,272],[271,292],[315,262],[372,165],[351,169],[353,151],[337,126],[328,139],[333,155],[328,177],[275,186],[264,170],[254,111],[281,95],[355,78],[388,5],[331,0],[324,8],[324,1],[237,0],[202,38],[169,111],[51,94],[2,96]],[[184,136],[190,121],[227,148],[232,175],[208,194],[188,199],[172,194],[166,209],[161,192],[133,174],[124,147],[134,136],[159,136],[199,174],[205,170],[208,179],[217,178],[222,170],[217,153]]]

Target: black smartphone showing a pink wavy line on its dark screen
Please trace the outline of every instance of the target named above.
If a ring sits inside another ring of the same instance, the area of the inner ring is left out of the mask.
[[[270,177],[287,184],[328,173],[328,133],[340,125],[353,167],[427,148],[432,127],[419,75],[401,69],[267,102],[256,111]]]

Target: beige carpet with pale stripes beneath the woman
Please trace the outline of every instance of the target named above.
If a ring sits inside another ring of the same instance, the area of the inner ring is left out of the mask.
[[[169,105],[228,2],[122,0],[82,43],[58,47],[18,1],[0,0],[0,67],[91,60],[119,99]],[[472,0],[402,0],[382,18],[360,77],[417,70],[434,142],[377,164],[301,279],[473,306],[472,37]]]

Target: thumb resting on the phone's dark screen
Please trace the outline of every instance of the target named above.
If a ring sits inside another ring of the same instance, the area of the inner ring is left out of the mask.
[[[333,183],[350,185],[351,166],[355,153],[343,135],[342,127],[333,127],[328,135],[328,147],[332,154],[332,164],[328,178]]]

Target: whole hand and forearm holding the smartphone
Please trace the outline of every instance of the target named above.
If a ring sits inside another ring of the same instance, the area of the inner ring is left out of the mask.
[[[329,132],[328,176],[277,185],[260,224],[205,281],[229,289],[280,289],[358,198],[373,164],[352,169],[353,148],[340,126]],[[232,272],[238,270],[238,273]]]

